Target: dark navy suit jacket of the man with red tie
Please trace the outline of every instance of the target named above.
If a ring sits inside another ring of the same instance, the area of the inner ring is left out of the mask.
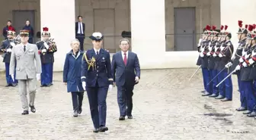
[[[126,66],[123,62],[122,51],[113,55],[111,66],[114,82],[117,86],[124,86],[124,83],[126,83],[126,86],[134,86],[136,84],[135,77],[140,78],[139,59],[137,54],[131,51],[128,51]]]

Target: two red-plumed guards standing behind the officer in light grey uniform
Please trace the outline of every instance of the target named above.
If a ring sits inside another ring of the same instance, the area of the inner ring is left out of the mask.
[[[11,50],[15,45],[21,43],[21,37],[16,36],[13,28],[8,28],[7,39],[2,41],[0,51],[2,54],[3,62],[5,63],[5,78],[8,86],[17,86],[18,80],[14,76],[9,74],[10,61],[11,61]],[[54,53],[57,51],[56,43],[53,39],[50,39],[50,32],[47,27],[43,27],[42,40],[36,43],[38,48],[38,53],[40,54],[40,59],[42,63],[42,73],[40,74],[41,87],[48,87],[53,85],[53,63],[54,63]]]

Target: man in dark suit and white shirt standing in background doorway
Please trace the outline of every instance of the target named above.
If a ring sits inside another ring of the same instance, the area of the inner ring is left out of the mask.
[[[75,39],[80,42],[80,50],[84,51],[85,23],[82,23],[82,16],[78,16],[78,22],[75,22]]]

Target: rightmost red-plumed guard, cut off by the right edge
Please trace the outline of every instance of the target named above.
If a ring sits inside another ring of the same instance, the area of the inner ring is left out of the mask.
[[[256,33],[253,31],[255,26],[248,26],[248,45],[242,52],[242,58],[240,58],[240,66],[241,68],[241,89],[245,91],[245,98],[247,103],[247,111],[243,114],[248,114],[248,117],[254,117],[256,114],[254,112],[255,106],[255,95],[253,82],[255,79],[255,71],[254,70],[254,49],[256,48]],[[238,68],[237,68],[238,69]]]

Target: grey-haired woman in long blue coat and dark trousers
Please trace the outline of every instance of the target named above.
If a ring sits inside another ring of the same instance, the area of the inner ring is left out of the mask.
[[[80,42],[74,39],[71,42],[72,50],[66,54],[66,60],[63,70],[63,82],[65,82],[68,92],[72,95],[72,104],[74,117],[82,113],[82,101],[84,98],[84,89],[81,82],[81,64],[83,52],[79,50]]]

